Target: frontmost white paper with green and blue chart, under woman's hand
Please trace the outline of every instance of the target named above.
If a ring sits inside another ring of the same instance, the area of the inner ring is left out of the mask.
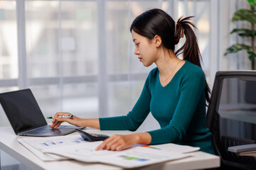
[[[109,150],[95,151],[95,148],[101,143],[80,143],[79,145],[65,147],[65,149],[61,147],[45,149],[43,152],[57,154],[81,162],[100,162],[122,166],[124,168],[136,168],[191,156],[189,154],[170,152],[151,146],[132,147],[118,152]]]

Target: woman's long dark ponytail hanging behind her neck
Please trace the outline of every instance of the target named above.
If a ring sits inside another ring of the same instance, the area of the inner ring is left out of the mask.
[[[196,35],[193,32],[193,28],[196,28],[196,26],[189,21],[193,16],[188,16],[186,18],[178,18],[178,21],[176,23],[174,38],[176,40],[176,44],[178,44],[180,38],[183,38],[183,35],[186,37],[186,42],[184,45],[178,49],[175,52],[175,55],[181,55],[183,54],[183,60],[187,60],[188,62],[191,62],[193,64],[196,64],[198,67],[201,67],[200,60],[202,59],[201,53],[198,47]],[[197,28],[196,28],[197,29]],[[202,68],[202,67],[201,67]],[[206,77],[206,75],[205,75]],[[206,81],[206,101],[210,103],[210,88]]]

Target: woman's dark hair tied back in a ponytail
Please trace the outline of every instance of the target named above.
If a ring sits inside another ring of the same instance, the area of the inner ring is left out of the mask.
[[[201,53],[198,47],[196,35],[192,28],[196,26],[191,23],[189,16],[186,18],[179,18],[177,23],[166,12],[159,8],[153,8],[149,11],[137,16],[132,22],[130,32],[134,30],[135,33],[142,35],[149,40],[155,35],[161,37],[163,46],[170,50],[175,50],[175,45],[178,44],[179,39],[185,35],[186,42],[175,52],[175,55],[183,55],[183,60],[192,62],[198,67],[201,67]],[[192,28],[191,28],[192,26]],[[201,67],[202,68],[202,67]],[[210,102],[210,88],[206,82],[206,101]]]

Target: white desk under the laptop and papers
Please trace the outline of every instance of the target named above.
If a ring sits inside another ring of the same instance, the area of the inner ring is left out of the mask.
[[[86,130],[87,132],[99,132],[99,130]],[[102,131],[106,135],[118,134],[129,134],[129,131]],[[43,162],[38,159],[28,149],[18,143],[18,138],[14,130],[11,127],[0,128],[0,149],[7,154],[14,157],[22,164],[25,164],[31,169],[54,169],[54,170],[65,170],[65,169],[122,169],[118,166],[111,166],[107,164],[90,164],[85,162],[78,162],[75,160],[59,161],[59,162]],[[75,133],[73,133],[75,134]],[[72,134],[71,134],[72,135]],[[150,166],[144,166],[140,169],[208,169],[220,166],[220,157],[213,154],[207,154],[205,152],[193,152],[194,157],[188,157],[185,159],[179,159],[171,162],[164,162],[161,164],[153,164]]]

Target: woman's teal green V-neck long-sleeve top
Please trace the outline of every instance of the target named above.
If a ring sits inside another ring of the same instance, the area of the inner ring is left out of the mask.
[[[156,67],[146,78],[132,111],[123,116],[100,118],[100,129],[135,131],[151,112],[161,126],[161,129],[149,132],[151,145],[191,145],[213,154],[211,134],[206,128],[205,88],[202,69],[191,62],[186,61],[164,87]]]

